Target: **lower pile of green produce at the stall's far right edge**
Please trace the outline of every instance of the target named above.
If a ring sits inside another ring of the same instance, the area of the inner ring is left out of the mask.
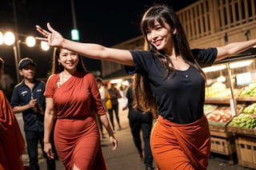
[[[239,128],[255,128],[256,127],[256,119],[251,114],[239,114],[238,117],[234,117],[232,121],[230,121],[229,126],[235,126]]]

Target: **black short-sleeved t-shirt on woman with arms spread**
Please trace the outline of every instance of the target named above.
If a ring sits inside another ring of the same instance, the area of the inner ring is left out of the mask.
[[[217,49],[192,50],[198,63],[210,66],[217,56]],[[197,121],[203,114],[205,79],[194,66],[187,70],[175,70],[166,78],[166,69],[154,53],[131,50],[134,67],[125,66],[126,73],[139,73],[148,79],[159,114],[169,121],[188,124]]]

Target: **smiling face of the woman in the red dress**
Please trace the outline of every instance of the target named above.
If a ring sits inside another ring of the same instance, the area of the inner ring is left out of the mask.
[[[69,72],[76,71],[78,61],[78,53],[74,53],[68,49],[61,49],[58,57],[58,62],[60,62],[63,65],[64,69],[66,69]]]

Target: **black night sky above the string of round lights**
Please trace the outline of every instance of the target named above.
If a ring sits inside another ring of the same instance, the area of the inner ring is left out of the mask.
[[[70,38],[73,19],[70,0],[0,0],[0,30],[15,29],[14,8],[16,5],[17,29],[19,34],[40,36],[35,25],[46,28],[50,22],[63,37]],[[182,3],[181,3],[182,2]],[[112,46],[141,35],[139,22],[143,12],[154,3],[165,3],[180,10],[196,0],[74,0],[75,18],[80,32],[80,42],[92,42]],[[22,37],[20,38],[22,40]],[[31,57],[37,66],[37,77],[47,77],[51,69],[52,49],[44,52],[39,47],[28,48],[20,44],[21,58]],[[14,53],[11,46],[0,45],[0,57],[6,61],[6,73],[14,80]],[[86,68],[100,70],[100,62],[85,58]]]

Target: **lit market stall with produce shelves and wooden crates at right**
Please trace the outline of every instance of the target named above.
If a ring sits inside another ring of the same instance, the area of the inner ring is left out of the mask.
[[[230,57],[204,69],[211,152],[248,168],[256,168],[255,59],[254,54]]]

